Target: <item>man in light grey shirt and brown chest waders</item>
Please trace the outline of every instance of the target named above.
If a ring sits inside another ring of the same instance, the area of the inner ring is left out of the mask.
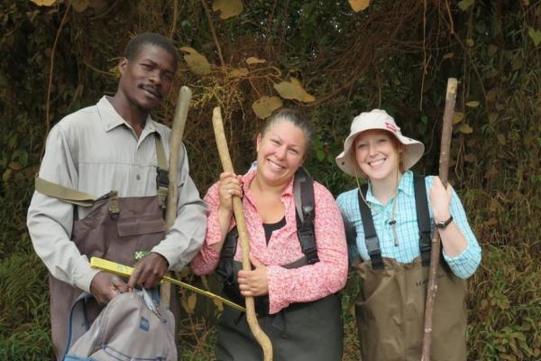
[[[184,149],[178,217],[167,234],[164,202],[156,195],[157,171],[167,168],[160,164],[160,152],[169,153],[170,128],[155,123],[149,112],[168,94],[177,61],[175,47],[163,36],[133,38],[118,64],[115,96],[66,116],[50,131],[27,224],[34,249],[50,271],[58,356],[66,343],[69,308],[79,293],[91,292],[103,307],[115,292],[156,287],[168,269],[188,264],[203,242],[206,206],[188,175]],[[42,182],[47,186],[38,185]],[[68,197],[61,199],[59,192]],[[70,203],[87,195],[105,196],[90,209]],[[93,255],[134,264],[133,275],[125,283],[98,272],[88,262]],[[137,255],[144,256],[136,261]]]

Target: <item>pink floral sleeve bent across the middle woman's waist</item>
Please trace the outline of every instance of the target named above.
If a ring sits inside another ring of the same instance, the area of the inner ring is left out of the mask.
[[[291,303],[316,301],[344,288],[348,260],[342,216],[325,187],[314,183],[314,190],[319,262],[295,269],[267,266],[271,314]]]

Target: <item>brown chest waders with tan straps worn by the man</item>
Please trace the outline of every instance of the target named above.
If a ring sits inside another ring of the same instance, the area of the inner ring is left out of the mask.
[[[96,199],[77,190],[70,190],[46,180],[36,179],[36,190],[74,205],[91,207],[87,216],[73,222],[71,240],[81,255],[93,256],[133,266],[165,236],[163,219],[167,197],[167,160],[160,137],[155,138],[158,155],[158,195],[118,198],[115,191]],[[165,177],[165,180],[164,180]],[[66,346],[69,310],[83,292],[49,274],[50,325],[57,356]],[[171,292],[170,310],[179,321],[180,304],[177,292]],[[87,302],[87,320],[91,324],[103,309],[95,300]]]

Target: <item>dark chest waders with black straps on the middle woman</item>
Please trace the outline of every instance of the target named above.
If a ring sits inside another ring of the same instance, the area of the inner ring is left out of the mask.
[[[298,242],[304,256],[282,267],[293,269],[319,262],[313,220],[315,201],[313,180],[300,168],[295,175],[294,197]],[[225,296],[243,304],[236,280],[242,264],[234,261],[238,232],[225,237],[216,273],[224,282]],[[271,338],[274,361],[340,361],[343,354],[343,323],[340,298],[331,294],[317,301],[293,303],[269,315],[269,297],[255,297],[255,310],[261,329]],[[259,361],[261,347],[252,336],[243,312],[225,308],[218,320],[215,346],[217,361]]]

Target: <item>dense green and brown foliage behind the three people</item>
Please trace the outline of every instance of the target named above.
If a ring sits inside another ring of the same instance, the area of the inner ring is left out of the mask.
[[[373,107],[386,109],[404,134],[426,144],[416,171],[436,173],[445,85],[457,78],[450,178],[483,248],[481,268],[469,282],[468,359],[540,357],[537,3],[463,0],[425,8],[417,0],[382,0],[355,14],[348,2],[258,0],[243,2],[243,12],[226,20],[210,12],[209,22],[198,1],[102,0],[80,2],[86,6],[70,10],[60,31],[67,2],[57,3],[0,4],[0,50],[8,54],[0,58],[0,359],[52,354],[46,272],[25,230],[46,133],[62,116],[115,92],[118,57],[130,35],[143,31],[171,34],[179,48],[193,48],[209,62],[204,76],[184,61],[177,74],[179,84],[194,90],[185,143],[203,193],[220,169],[212,107],[222,106],[234,164],[246,169],[261,125],[252,103],[278,96],[273,84],[290,77],[316,97],[284,105],[304,107],[312,119],[316,137],[307,169],[333,194],[355,187],[334,159],[353,117]],[[247,64],[249,57],[266,62]],[[230,76],[241,68],[248,72]],[[154,117],[169,124],[174,100]],[[359,282],[352,277],[343,292],[344,360],[359,355],[351,312]],[[212,359],[219,310],[189,292],[182,296],[183,357]]]

